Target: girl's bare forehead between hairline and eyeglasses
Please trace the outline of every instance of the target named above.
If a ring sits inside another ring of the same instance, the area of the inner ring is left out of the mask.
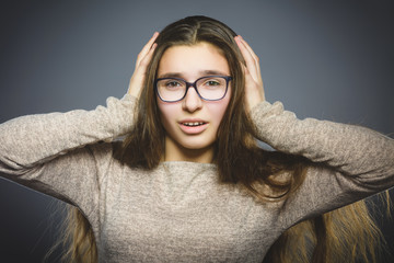
[[[187,80],[202,77],[207,71],[230,75],[229,64],[222,52],[202,42],[166,49],[159,62],[158,77],[174,75]]]

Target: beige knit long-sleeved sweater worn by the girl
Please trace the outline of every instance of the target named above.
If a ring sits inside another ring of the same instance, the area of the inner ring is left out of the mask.
[[[0,172],[78,206],[93,226],[100,262],[262,262],[290,226],[394,186],[394,140],[370,129],[300,121],[281,103],[253,112],[259,140],[302,155],[306,180],[286,203],[257,204],[218,183],[215,164],[121,165],[114,139],[131,127],[135,100],[31,115],[0,125]],[[105,141],[105,142],[104,142]]]

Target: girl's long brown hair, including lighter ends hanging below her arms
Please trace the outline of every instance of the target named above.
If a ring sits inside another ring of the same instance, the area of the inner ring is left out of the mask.
[[[220,182],[239,184],[258,202],[283,201],[302,184],[310,163],[302,157],[266,151],[257,146],[256,128],[244,104],[244,60],[234,42],[235,35],[225,24],[206,16],[179,20],[161,32],[148,67],[146,87],[136,106],[134,128],[116,158],[126,165],[140,169],[150,170],[159,165],[164,153],[165,130],[160,121],[153,81],[160,59],[172,46],[210,43],[227,58],[233,77],[232,96],[215,142],[213,162],[218,165]],[[290,175],[285,180],[278,176],[283,173]],[[268,186],[269,191],[264,191],[266,187],[262,186]],[[68,231],[81,226],[89,228],[88,221],[79,217],[79,211],[69,215]],[[82,238],[69,236],[72,242],[69,254],[73,255],[73,261],[82,262],[86,259],[83,256],[90,258],[91,262],[97,259],[92,230],[88,230]],[[335,259],[355,260],[357,253],[370,261],[374,260],[373,248],[379,237],[380,231],[371,220],[364,202],[359,202],[292,227],[270,248],[267,261],[324,263],[335,262]],[[349,245],[354,248],[350,251]]]

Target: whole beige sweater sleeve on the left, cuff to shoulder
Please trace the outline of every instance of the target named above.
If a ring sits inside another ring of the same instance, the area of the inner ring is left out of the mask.
[[[27,115],[1,124],[0,175],[86,211],[97,201],[100,176],[111,161],[109,141],[132,127],[135,102],[126,94],[93,111]]]

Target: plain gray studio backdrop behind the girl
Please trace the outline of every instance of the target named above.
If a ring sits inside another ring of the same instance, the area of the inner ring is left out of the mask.
[[[301,118],[392,136],[393,11],[390,1],[362,0],[1,1],[0,123],[120,98],[154,31],[205,14],[254,48],[268,101],[282,101]],[[56,238],[59,205],[0,180],[0,262],[40,262]],[[379,221],[393,238],[393,219]]]

